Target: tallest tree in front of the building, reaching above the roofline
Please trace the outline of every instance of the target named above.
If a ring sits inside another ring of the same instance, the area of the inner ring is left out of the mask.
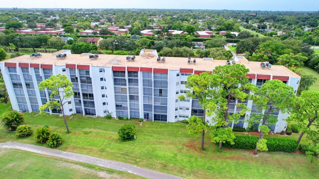
[[[240,116],[245,115],[249,110],[245,103],[237,102],[245,101],[251,98],[249,91],[255,92],[257,87],[248,83],[247,73],[249,69],[244,65],[224,65],[216,67],[212,72],[213,85],[215,93],[213,94],[213,108],[210,112],[214,114],[211,119],[214,127],[210,133],[212,142],[219,143],[219,149],[222,143],[226,141],[233,144],[235,139],[232,128],[227,127],[230,122],[238,123]],[[236,111],[230,111],[230,104],[236,105]],[[215,107],[216,106],[216,107]]]

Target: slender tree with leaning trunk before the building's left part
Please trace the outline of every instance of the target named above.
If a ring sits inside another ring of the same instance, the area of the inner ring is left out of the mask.
[[[60,109],[63,115],[66,131],[69,131],[68,124],[66,122],[63,105],[68,102],[68,99],[74,95],[72,91],[72,83],[67,79],[65,75],[58,74],[57,76],[51,76],[50,78],[42,81],[39,84],[39,89],[44,91],[49,89],[51,91],[50,100],[39,107],[40,113],[44,113],[46,108]],[[58,100],[55,100],[55,98]]]

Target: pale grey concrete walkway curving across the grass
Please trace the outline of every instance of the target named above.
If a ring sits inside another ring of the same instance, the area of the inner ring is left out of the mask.
[[[113,169],[117,171],[128,172],[128,173],[135,174],[135,175],[142,176],[149,179],[181,179],[173,175],[163,174],[163,173],[151,171],[148,169],[142,169],[142,168],[135,167],[133,165],[125,164],[122,162],[115,162],[111,160],[100,159],[100,158],[91,157],[87,155],[51,149],[51,148],[36,146],[32,144],[24,144],[24,143],[18,143],[18,142],[5,142],[5,143],[0,143],[0,148],[19,149],[19,150],[28,151],[28,152],[34,152],[37,154],[43,154],[47,156],[68,159],[72,161],[105,167],[105,168]]]

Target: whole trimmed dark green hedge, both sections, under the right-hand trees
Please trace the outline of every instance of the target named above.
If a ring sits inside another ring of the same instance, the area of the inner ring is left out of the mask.
[[[267,140],[267,148],[270,152],[296,152],[298,149],[297,140],[286,139],[286,138],[273,138],[264,137]],[[234,139],[235,144],[230,145],[229,142],[223,144],[224,147],[231,147],[235,149],[250,149],[254,150],[256,148],[256,143],[258,141],[257,136],[236,136]]]

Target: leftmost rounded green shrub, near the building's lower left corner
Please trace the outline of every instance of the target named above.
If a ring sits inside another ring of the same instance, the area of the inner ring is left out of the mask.
[[[3,114],[1,124],[8,131],[15,131],[19,125],[24,124],[24,117],[17,110],[8,111]]]

